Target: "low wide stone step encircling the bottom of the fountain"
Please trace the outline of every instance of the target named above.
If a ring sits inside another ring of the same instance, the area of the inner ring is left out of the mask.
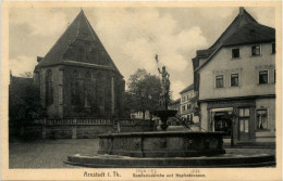
[[[118,155],[67,156],[69,165],[93,168],[236,168],[236,167],[274,167],[272,155],[231,155],[204,157],[136,158]]]

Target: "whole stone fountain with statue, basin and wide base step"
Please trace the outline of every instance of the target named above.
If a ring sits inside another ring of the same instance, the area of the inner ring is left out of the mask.
[[[156,56],[158,62],[158,56]],[[126,132],[99,135],[98,155],[69,156],[66,164],[85,167],[258,167],[274,165],[271,155],[229,155],[223,148],[224,132],[165,131],[169,117],[176,111],[168,109],[170,80],[162,72],[162,92],[157,111],[163,131]]]

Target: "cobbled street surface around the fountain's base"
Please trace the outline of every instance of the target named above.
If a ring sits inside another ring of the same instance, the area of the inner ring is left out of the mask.
[[[67,155],[94,155],[97,139],[36,140],[10,143],[10,168],[77,168],[63,164]],[[226,148],[227,154],[274,154],[274,148]]]

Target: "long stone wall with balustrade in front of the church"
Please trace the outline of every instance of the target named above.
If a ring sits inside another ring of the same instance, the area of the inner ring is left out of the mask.
[[[35,119],[10,124],[10,138],[24,139],[93,139],[114,132],[153,131],[152,120],[142,119]]]

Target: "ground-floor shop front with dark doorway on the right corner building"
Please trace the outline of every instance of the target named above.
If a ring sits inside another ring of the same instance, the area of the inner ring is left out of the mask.
[[[224,131],[235,143],[255,141],[255,100],[208,102],[207,111],[209,131]]]

